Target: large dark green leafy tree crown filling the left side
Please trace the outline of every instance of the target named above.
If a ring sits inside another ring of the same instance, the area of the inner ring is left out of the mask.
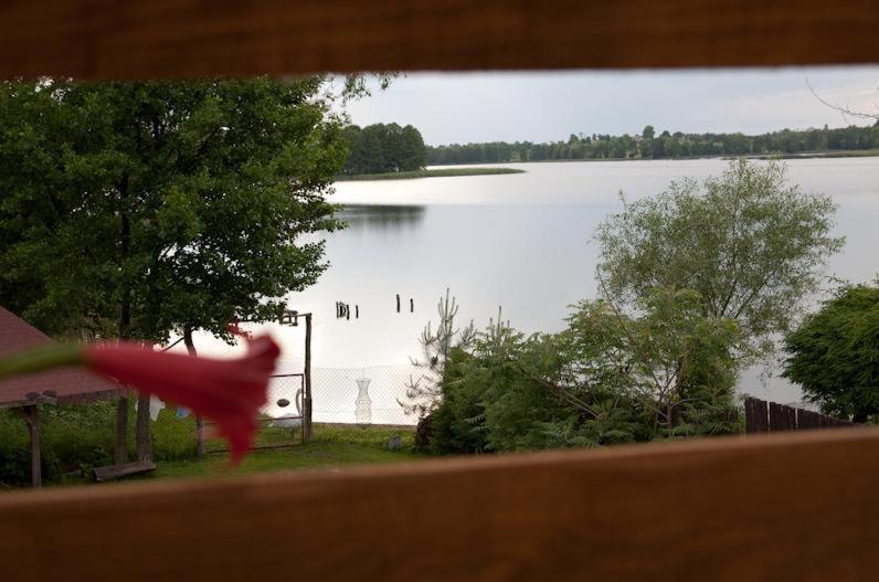
[[[0,303],[153,341],[269,319],[326,268],[347,155],[324,77],[0,84]]]

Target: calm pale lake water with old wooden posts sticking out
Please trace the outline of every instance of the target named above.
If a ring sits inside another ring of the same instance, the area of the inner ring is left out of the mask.
[[[788,178],[830,194],[836,233],[847,237],[828,275],[852,282],[879,272],[879,158],[788,160]],[[293,294],[289,306],[315,314],[315,411],[319,420],[353,422],[356,380],[370,379],[373,422],[413,422],[396,399],[417,357],[417,337],[446,287],[462,322],[497,317],[523,331],[558,331],[568,306],[596,297],[595,226],[627,199],[661,192],[669,181],[719,174],[723,160],[505,163],[526,173],[341,182],[349,227],[329,234],[329,271]],[[396,313],[395,295],[403,303]],[[414,313],[410,313],[410,298]],[[336,301],[351,306],[336,318]],[[354,306],[359,318],[354,317]],[[285,371],[300,367],[301,328],[276,329]],[[779,402],[799,400],[780,378],[751,370],[740,389]]]

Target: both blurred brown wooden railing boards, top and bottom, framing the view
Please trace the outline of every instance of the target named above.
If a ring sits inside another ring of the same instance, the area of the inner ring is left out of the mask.
[[[879,62],[876,0],[12,0],[0,77]],[[0,494],[0,579],[858,580],[879,433]]]

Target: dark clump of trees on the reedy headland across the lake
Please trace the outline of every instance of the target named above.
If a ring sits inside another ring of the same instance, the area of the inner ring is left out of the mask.
[[[343,173],[386,173],[420,170],[427,163],[427,147],[413,126],[350,125],[342,131],[349,154]]]

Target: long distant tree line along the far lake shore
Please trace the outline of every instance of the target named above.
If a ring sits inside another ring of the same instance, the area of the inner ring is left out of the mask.
[[[589,160],[589,159],[665,159],[703,156],[745,156],[798,154],[826,150],[879,148],[879,121],[871,127],[829,129],[783,129],[759,136],[744,134],[682,134],[663,131],[653,126],[640,135],[571,135],[568,141],[491,141],[453,144],[427,148],[427,162],[494,163],[509,161]]]

